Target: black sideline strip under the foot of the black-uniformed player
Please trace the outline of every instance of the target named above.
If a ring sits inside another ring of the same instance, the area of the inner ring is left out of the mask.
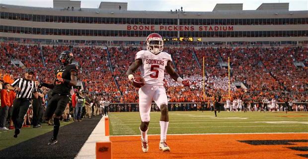
[[[92,119],[84,119],[82,122],[73,122],[61,127],[56,145],[47,145],[48,140],[52,137],[53,132],[51,131],[0,151],[0,158],[74,159],[101,118],[101,116],[95,116]],[[21,129],[18,138],[22,137],[23,133],[24,131]],[[30,135],[35,136],[35,131]],[[14,140],[14,138],[11,135],[11,138],[6,140]],[[5,142],[1,140],[0,143]]]

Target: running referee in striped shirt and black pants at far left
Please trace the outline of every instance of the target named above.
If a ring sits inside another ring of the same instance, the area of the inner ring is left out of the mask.
[[[34,72],[31,69],[26,69],[24,79],[16,79],[8,88],[9,90],[17,91],[11,112],[11,118],[15,126],[14,138],[17,138],[20,133],[24,116],[30,105],[32,93],[38,95],[34,81],[32,81],[33,75]]]

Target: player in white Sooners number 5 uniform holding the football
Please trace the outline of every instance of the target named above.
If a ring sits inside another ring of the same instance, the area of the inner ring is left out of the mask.
[[[135,56],[135,62],[129,67],[126,75],[128,79],[134,80],[134,71],[139,67],[141,77],[145,79],[145,85],[139,89],[139,112],[141,117],[141,142],[142,151],[148,152],[148,130],[150,122],[151,103],[154,102],[160,109],[160,151],[170,151],[166,144],[166,135],[169,124],[168,99],[163,86],[164,70],[172,79],[178,83],[189,86],[189,80],[183,80],[172,68],[171,55],[163,52],[163,40],[157,33],[152,33],[147,37],[147,50],[139,51]]]

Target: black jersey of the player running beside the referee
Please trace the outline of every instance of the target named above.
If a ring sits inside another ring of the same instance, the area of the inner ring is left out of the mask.
[[[55,70],[56,78],[62,78],[62,79],[71,79],[71,72],[77,72],[78,68],[75,64],[67,65],[67,66],[60,66]],[[72,89],[72,86],[66,83],[62,83],[56,80],[55,87],[54,87],[54,93],[62,94],[62,95],[69,95],[70,91]]]

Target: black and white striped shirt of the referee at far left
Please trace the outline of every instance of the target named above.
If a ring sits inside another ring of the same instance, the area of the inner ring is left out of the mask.
[[[32,92],[36,92],[36,86],[34,84],[34,81],[32,80],[26,80],[23,78],[16,79],[11,86],[19,87],[21,90],[16,92],[16,98],[28,98],[30,99],[32,97]]]

